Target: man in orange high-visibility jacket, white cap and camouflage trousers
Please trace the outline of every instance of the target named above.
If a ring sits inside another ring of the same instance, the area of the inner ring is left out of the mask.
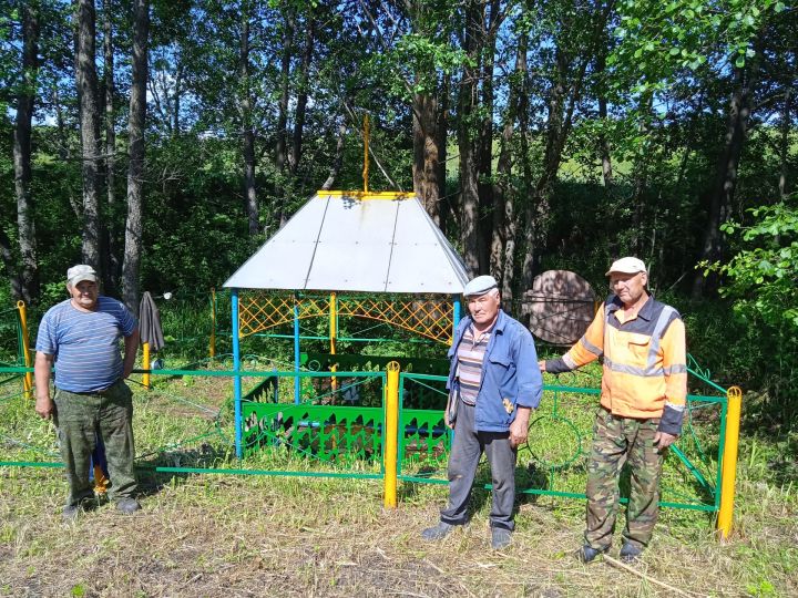
[[[583,563],[612,545],[624,462],[632,478],[622,560],[634,561],[651,540],[663,455],[682,432],[687,398],[682,317],[648,293],[642,260],[621,258],[607,276],[613,295],[584,336],[562,358],[539,363],[543,372],[561,373],[604,358],[601,408],[587,464],[585,544],[577,553]]]

